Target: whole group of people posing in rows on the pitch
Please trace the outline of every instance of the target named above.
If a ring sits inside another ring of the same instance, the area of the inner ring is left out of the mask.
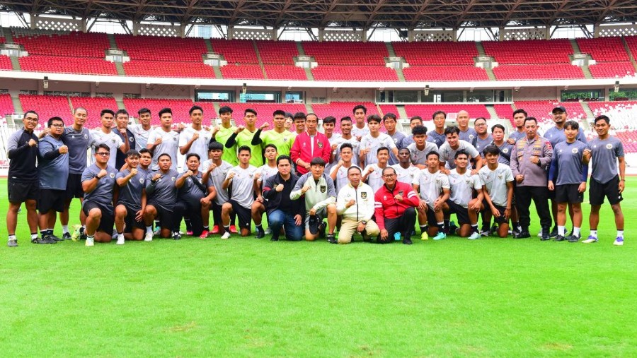
[[[189,126],[173,126],[169,108],[159,111],[155,128],[149,109],[137,114],[139,124],[129,124],[125,109],[103,109],[101,128],[89,131],[88,113],[79,107],[72,124],[53,117],[38,137],[38,114],[25,113],[23,129],[8,141],[8,246],[18,245],[22,203],[33,243],[71,239],[69,206],[75,198],[81,201],[81,227],[74,234],[86,246],[180,239],[182,221],[186,234],[202,239],[245,237],[254,226],[257,238],[271,234],[272,241],[325,237],[348,244],[360,236],[412,244],[416,220],[421,239],[510,232],[522,239],[531,236],[531,201],[542,240],[577,242],[591,161],[590,234],[583,242],[597,241],[599,209],[607,198],[617,229],[614,244],[624,243],[624,150],[609,136],[604,115],[595,118],[597,138],[587,142],[563,107],[553,109],[555,126],[544,136],[537,120],[517,109],[509,138],[504,126],[489,128],[484,118],[471,128],[466,111],[457,114],[454,126],[445,126],[447,114],[435,112],[431,131],[421,117],[412,117],[411,136],[397,130],[395,114],[367,116],[363,105],[353,108],[353,119],[338,121],[340,133],[335,117],[322,119],[321,133],[315,114],[282,110],[272,114],[270,130],[268,121],[256,126],[254,109],[243,112],[241,126],[232,124],[226,106],[219,109],[221,123],[210,127],[202,124],[203,109],[196,105]],[[58,213],[62,237],[53,231]]]

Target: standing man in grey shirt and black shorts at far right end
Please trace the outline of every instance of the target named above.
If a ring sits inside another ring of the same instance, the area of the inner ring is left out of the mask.
[[[584,240],[586,244],[597,242],[597,225],[599,224],[599,208],[604,203],[604,197],[613,208],[617,236],[613,242],[616,246],[624,244],[624,213],[621,211],[621,193],[626,186],[626,161],[624,160],[624,145],[619,139],[609,136],[610,119],[601,115],[595,118],[597,138],[588,142],[584,151],[585,160],[592,160],[592,174],[590,178],[590,235]],[[619,162],[619,175],[617,163]]]

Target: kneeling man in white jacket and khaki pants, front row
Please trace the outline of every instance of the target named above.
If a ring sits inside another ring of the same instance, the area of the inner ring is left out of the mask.
[[[338,244],[349,244],[352,236],[359,232],[365,241],[377,237],[380,233],[374,215],[374,191],[372,187],[360,181],[360,167],[352,165],[348,169],[350,183],[338,191],[336,213],[343,215],[343,224],[338,232]]]

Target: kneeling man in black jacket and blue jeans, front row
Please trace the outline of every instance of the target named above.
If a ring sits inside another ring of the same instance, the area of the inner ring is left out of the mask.
[[[292,174],[292,159],[287,155],[277,158],[277,168],[279,172],[268,178],[263,186],[265,211],[268,213],[268,225],[272,229],[270,240],[277,241],[283,227],[288,240],[299,241],[303,239],[304,201],[289,198],[299,177]]]

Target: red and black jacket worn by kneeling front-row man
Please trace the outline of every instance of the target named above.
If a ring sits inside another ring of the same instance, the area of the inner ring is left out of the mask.
[[[396,201],[394,198],[397,194],[403,196],[402,201]],[[401,217],[405,210],[410,207],[416,207],[420,204],[418,194],[413,191],[413,187],[409,184],[396,181],[394,190],[387,189],[387,186],[381,186],[374,196],[374,205],[376,207],[376,223],[379,229],[385,229],[385,219],[396,219]]]

